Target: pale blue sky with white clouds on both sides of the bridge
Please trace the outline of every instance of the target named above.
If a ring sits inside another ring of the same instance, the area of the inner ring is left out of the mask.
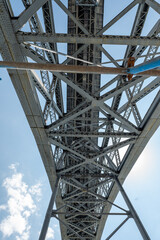
[[[116,3],[115,0],[112,2]],[[125,4],[130,2],[127,0]],[[111,8],[110,5],[108,7]],[[122,4],[117,4],[115,12],[108,11],[106,22],[123,7]],[[135,10],[136,8],[133,9],[133,13]],[[55,12],[58,17],[58,11]],[[152,14],[151,10],[144,33],[147,29],[150,30],[158,18],[154,13],[153,19]],[[130,22],[133,21],[133,15]],[[123,26],[124,22],[125,19],[120,24]],[[65,32],[64,28],[61,29],[62,25],[58,25],[57,21],[58,32]],[[118,28],[118,25],[110,30],[110,34],[114,34],[117,29],[119,31],[117,34],[121,34],[123,29]],[[61,45],[59,50],[65,51],[66,48]],[[115,54],[115,58],[121,57],[121,52],[117,55],[115,48],[107,46],[107,50]],[[0,81],[0,239],[38,239],[51,195],[50,186],[34,137],[7,71],[1,69],[0,77],[2,78]],[[128,196],[153,240],[160,238],[159,138],[160,129],[148,143],[124,184]],[[120,194],[116,203],[125,206]],[[121,220],[116,216],[109,217],[102,240],[105,240]],[[142,239],[132,219],[112,239],[124,238]],[[60,239],[56,220],[51,222],[47,239]]]

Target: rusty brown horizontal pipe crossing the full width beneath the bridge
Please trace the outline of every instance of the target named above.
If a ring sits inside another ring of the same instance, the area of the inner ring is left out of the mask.
[[[75,66],[61,64],[42,64],[26,62],[0,61],[0,68],[21,69],[21,70],[47,70],[56,73],[86,73],[86,74],[115,74],[128,75],[126,68],[97,67],[97,66]],[[160,70],[149,70],[136,74],[137,76],[160,76]]]

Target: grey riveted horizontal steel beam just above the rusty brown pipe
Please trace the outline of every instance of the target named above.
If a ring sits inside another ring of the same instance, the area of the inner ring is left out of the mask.
[[[60,43],[81,43],[81,44],[111,44],[111,45],[142,45],[160,46],[159,37],[132,37],[123,35],[72,35],[52,33],[27,33],[16,34],[20,43],[22,42],[60,42]]]

